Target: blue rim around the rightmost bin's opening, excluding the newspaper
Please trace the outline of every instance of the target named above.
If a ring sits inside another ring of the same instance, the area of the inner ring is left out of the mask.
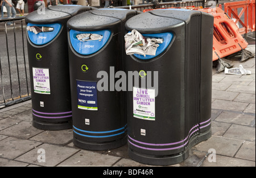
[[[171,43],[172,39],[174,38],[174,34],[172,34],[171,32],[165,32],[165,33],[160,33],[160,34],[142,34],[142,35],[144,37],[163,38],[164,39],[163,43],[160,43],[159,47],[156,49],[155,56],[154,55],[146,55],[144,57],[143,55],[134,54],[135,57],[137,57],[138,59],[142,59],[142,60],[152,59],[152,58],[160,55],[160,53],[162,53],[168,47],[168,45]]]

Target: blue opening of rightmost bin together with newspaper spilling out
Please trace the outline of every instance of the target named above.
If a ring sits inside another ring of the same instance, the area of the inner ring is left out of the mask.
[[[125,35],[126,55],[134,55],[143,60],[152,59],[170,45],[173,36],[171,32],[142,35],[132,30]]]

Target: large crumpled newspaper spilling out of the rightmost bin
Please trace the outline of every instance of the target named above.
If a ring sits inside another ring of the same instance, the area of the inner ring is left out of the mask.
[[[158,43],[163,43],[162,38],[145,38],[137,30],[132,30],[125,35],[126,55],[152,55],[155,56]]]

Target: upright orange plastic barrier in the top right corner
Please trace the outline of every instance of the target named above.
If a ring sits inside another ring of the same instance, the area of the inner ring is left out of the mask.
[[[255,31],[255,0],[224,3],[224,9],[235,23],[241,24],[240,34]]]

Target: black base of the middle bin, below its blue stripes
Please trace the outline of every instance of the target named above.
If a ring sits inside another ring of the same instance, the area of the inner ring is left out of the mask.
[[[113,140],[111,142],[85,142],[83,140],[78,140],[76,136],[73,137],[73,144],[76,147],[82,148],[84,150],[110,150],[124,146],[127,143],[127,135],[119,140]]]

